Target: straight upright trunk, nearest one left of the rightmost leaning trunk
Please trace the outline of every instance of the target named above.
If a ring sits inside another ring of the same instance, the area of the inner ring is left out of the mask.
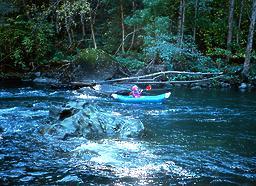
[[[235,0],[230,0],[229,16],[228,16],[228,37],[227,37],[227,50],[229,51],[231,51],[231,43],[232,43],[232,36],[233,36],[234,5],[235,5]]]

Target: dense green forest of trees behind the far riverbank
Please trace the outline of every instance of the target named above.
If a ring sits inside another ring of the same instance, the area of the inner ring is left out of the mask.
[[[256,0],[2,0],[0,77],[105,53],[130,73],[256,77]]]

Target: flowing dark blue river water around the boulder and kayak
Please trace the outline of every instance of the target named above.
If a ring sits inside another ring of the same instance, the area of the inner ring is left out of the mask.
[[[49,110],[92,101],[140,119],[139,138],[43,135]],[[255,185],[256,96],[174,88],[163,104],[124,104],[77,91],[0,87],[0,184]]]

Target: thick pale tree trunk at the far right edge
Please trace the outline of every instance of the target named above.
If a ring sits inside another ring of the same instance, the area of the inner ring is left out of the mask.
[[[246,47],[246,56],[245,56],[245,61],[244,61],[244,68],[242,71],[242,76],[245,79],[247,79],[248,75],[249,75],[249,66],[250,66],[250,60],[251,60],[251,51],[252,51],[253,34],[254,34],[254,28],[255,28],[255,20],[256,20],[256,0],[253,0],[251,23],[250,23],[250,27],[249,27],[248,41],[247,41],[247,47]]]

